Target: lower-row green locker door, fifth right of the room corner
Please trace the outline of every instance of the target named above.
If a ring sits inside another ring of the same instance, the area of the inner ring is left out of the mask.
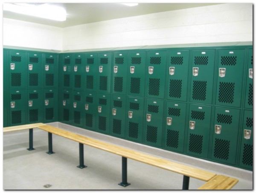
[[[125,138],[126,96],[113,95],[111,100],[110,134]]]

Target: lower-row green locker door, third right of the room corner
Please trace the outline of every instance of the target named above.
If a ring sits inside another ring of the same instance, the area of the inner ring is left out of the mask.
[[[88,130],[96,130],[96,109],[97,97],[95,92],[84,92],[85,98],[85,115],[84,115],[84,128]]]

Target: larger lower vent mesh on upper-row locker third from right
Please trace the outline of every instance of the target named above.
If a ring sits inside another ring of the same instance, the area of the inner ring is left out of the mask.
[[[205,101],[207,81],[193,81],[192,98],[194,100]]]

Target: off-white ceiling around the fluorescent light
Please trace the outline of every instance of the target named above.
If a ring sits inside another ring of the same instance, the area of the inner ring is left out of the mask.
[[[40,23],[56,27],[69,27],[86,23],[112,20],[122,17],[132,17],[156,12],[166,12],[178,9],[189,9],[201,6],[211,6],[219,3],[139,3],[138,6],[128,7],[121,3],[52,3],[64,7],[67,11],[66,21],[52,21],[3,11],[3,17]]]

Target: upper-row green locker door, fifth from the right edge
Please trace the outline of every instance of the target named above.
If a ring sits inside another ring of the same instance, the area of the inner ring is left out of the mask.
[[[165,97],[166,51],[147,52],[147,97]]]

